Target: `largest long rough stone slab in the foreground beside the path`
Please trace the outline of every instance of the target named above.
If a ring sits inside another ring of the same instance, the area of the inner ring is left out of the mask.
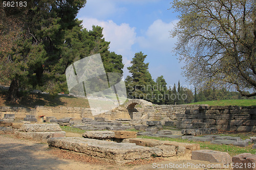
[[[117,143],[81,137],[49,138],[48,144],[50,147],[84,153],[117,164],[150,158],[154,153],[151,148],[134,143]]]

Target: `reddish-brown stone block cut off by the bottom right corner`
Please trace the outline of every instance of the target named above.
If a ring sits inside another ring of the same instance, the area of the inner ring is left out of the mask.
[[[253,164],[256,164],[256,155],[250,153],[243,153],[232,157],[234,168],[233,170],[256,170]],[[249,166],[249,164],[251,166]],[[236,166],[238,165],[238,166]]]

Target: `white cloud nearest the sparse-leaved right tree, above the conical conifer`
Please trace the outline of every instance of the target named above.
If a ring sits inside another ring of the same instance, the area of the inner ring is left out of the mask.
[[[142,48],[150,48],[163,52],[171,52],[177,41],[176,38],[170,38],[170,32],[177,24],[178,20],[166,23],[161,19],[155,20],[145,32],[145,36],[138,37],[137,42]]]

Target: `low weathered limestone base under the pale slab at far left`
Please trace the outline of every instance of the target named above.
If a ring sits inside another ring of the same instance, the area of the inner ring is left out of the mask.
[[[26,138],[26,139],[33,139],[33,140],[37,140],[37,141],[41,141],[41,142],[47,142],[47,138],[49,138],[49,136],[52,136],[53,134],[62,134],[62,135],[66,135],[65,131],[55,131],[55,132],[20,132],[20,131],[16,131],[14,132],[14,136],[18,137],[18,138]]]

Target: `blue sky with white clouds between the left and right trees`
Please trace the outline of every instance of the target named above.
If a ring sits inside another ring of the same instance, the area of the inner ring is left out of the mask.
[[[180,81],[189,87],[181,75],[182,63],[173,52],[177,38],[170,37],[178,22],[171,0],[87,0],[77,18],[83,20],[83,28],[103,27],[110,51],[122,55],[124,78],[131,75],[126,67],[131,66],[135,53],[147,55],[145,63],[152,78],[163,76],[167,87]],[[184,64],[183,64],[184,65]]]

